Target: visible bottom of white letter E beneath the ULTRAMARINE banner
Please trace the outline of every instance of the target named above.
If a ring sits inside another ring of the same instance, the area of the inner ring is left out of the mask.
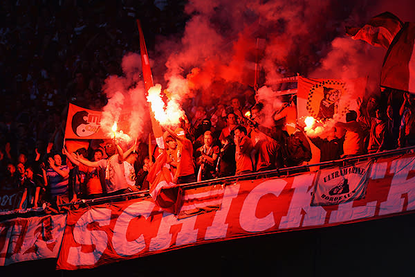
[[[365,206],[353,208],[353,202],[347,202],[338,206],[338,211],[332,211],[329,223],[358,220],[365,217],[373,217],[376,212],[377,201],[369,202]]]

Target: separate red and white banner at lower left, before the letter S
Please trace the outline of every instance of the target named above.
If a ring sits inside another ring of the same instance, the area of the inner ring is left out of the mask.
[[[57,258],[66,215],[17,218],[0,223],[0,265]]]

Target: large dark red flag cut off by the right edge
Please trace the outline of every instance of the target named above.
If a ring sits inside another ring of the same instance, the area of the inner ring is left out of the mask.
[[[389,47],[380,85],[415,93],[415,23],[406,22]]]

